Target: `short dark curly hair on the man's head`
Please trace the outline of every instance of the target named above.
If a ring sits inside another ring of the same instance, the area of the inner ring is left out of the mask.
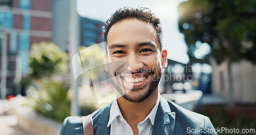
[[[158,17],[155,16],[155,13],[148,8],[145,7],[123,7],[117,9],[111,17],[106,20],[103,27],[103,35],[104,40],[106,40],[106,36],[108,36],[110,28],[118,21],[123,19],[136,18],[139,20],[146,21],[154,26],[157,32],[157,38],[160,43],[160,51],[162,51],[162,27],[161,22]],[[106,48],[106,47],[105,47]]]

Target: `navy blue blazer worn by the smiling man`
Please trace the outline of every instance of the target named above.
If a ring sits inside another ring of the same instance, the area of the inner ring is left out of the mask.
[[[107,127],[107,125],[111,105],[112,103],[91,114],[95,135],[110,134],[111,126]],[[217,134],[214,131],[214,126],[208,117],[160,98],[152,134]],[[63,121],[60,135],[68,134],[83,135],[81,117],[67,117]]]

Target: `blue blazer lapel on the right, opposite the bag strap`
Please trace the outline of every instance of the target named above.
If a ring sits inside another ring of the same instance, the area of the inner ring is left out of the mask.
[[[174,134],[176,113],[170,111],[166,99],[160,97],[152,134]]]

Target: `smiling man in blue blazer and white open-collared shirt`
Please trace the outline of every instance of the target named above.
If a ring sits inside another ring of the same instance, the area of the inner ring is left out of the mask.
[[[160,96],[167,52],[162,50],[160,20],[150,9],[118,9],[103,33],[105,62],[123,62],[105,67],[117,99],[92,113],[94,134],[215,134],[208,117]],[[129,66],[123,70],[125,63]],[[80,117],[68,117],[60,134],[83,134],[82,129]]]

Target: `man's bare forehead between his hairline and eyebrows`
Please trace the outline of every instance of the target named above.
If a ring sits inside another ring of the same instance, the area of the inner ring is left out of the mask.
[[[153,25],[139,19],[124,19],[116,22],[107,35],[107,46],[112,44],[140,44],[155,42],[159,45],[156,29]],[[148,43],[149,44],[149,43]]]

